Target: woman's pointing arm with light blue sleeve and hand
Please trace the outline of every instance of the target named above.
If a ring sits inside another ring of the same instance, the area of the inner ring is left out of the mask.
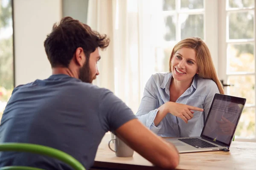
[[[163,128],[161,121],[168,113],[180,117],[187,123],[193,117],[192,113],[194,112],[191,110],[204,111],[201,108],[175,102],[166,102],[157,108],[157,93],[159,93],[157,91],[157,85],[151,76],[145,85],[143,98],[136,114],[137,118],[154,133],[157,133]]]

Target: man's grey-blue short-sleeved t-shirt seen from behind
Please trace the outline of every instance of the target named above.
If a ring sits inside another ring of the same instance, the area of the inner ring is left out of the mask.
[[[13,90],[0,124],[0,142],[41,144],[62,150],[89,169],[102,137],[136,116],[111,91],[65,74]],[[66,164],[31,153],[0,153],[0,167],[69,170]]]

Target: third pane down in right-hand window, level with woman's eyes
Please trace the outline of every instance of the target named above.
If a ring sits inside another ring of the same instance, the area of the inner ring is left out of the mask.
[[[255,62],[253,49],[253,44],[229,44],[227,46],[227,72],[254,72]]]

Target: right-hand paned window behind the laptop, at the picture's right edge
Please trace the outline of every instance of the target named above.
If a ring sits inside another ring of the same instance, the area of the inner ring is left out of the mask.
[[[220,76],[232,85],[226,94],[247,99],[235,138],[255,140],[255,1],[225,0],[220,6]]]

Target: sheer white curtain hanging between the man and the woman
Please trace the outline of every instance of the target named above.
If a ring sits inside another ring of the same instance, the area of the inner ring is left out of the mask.
[[[151,6],[149,0],[89,0],[88,4],[87,24],[111,40],[101,52],[99,76],[93,84],[113,91],[134,113],[155,71]]]

